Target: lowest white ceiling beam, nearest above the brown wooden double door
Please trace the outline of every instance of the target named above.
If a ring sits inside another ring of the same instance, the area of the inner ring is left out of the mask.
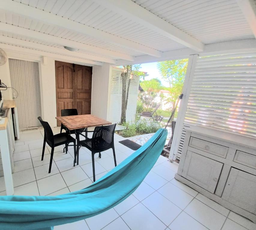
[[[98,61],[91,61],[91,60],[86,60],[86,59],[82,59],[82,58],[77,58],[77,57],[70,57],[70,56],[66,56],[66,55],[60,55],[60,54],[53,54],[53,53],[49,53],[49,52],[45,52],[45,51],[40,51],[40,50],[35,50],[35,49],[29,49],[29,48],[24,48],[24,47],[19,47],[19,46],[13,46],[13,45],[9,45],[9,44],[3,44],[0,43],[0,48],[5,50],[10,50],[13,52],[21,52],[21,53],[25,53],[25,54],[29,54],[29,55],[36,55],[36,56],[46,56],[46,57],[53,57],[55,60],[60,60],[60,61],[65,61],[65,62],[69,62],[69,63],[76,63],[76,64],[80,64],[80,65],[89,65],[89,66],[102,66],[103,63],[102,62],[98,62]]]

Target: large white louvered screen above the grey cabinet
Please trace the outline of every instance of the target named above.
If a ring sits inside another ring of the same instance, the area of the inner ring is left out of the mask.
[[[197,58],[177,158],[192,125],[256,138],[256,53]]]

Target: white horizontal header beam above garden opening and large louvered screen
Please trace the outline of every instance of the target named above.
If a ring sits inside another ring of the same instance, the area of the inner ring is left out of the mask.
[[[256,52],[256,40],[255,39],[245,39],[236,40],[229,42],[213,43],[204,46],[203,52],[195,52],[193,49],[176,49],[171,51],[163,52],[162,57],[152,57],[149,55],[142,55],[135,57],[133,62],[128,62],[126,60],[117,60],[117,65],[127,65],[127,64],[141,64],[165,60],[177,60],[188,58],[189,55],[199,54],[200,56],[207,55],[221,55],[221,54],[238,54],[238,53],[249,53]]]

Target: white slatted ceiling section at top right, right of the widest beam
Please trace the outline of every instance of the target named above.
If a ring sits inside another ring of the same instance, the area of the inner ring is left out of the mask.
[[[205,44],[254,38],[235,0],[133,0]]]

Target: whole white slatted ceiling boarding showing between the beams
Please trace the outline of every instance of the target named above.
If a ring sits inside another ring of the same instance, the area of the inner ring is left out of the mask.
[[[185,48],[184,45],[159,34],[152,28],[139,24],[136,19],[132,17],[126,18],[121,13],[107,9],[93,0],[14,1],[79,22],[100,31],[155,49],[156,51],[165,52]],[[204,44],[254,38],[236,0],[133,1]],[[134,57],[145,55],[141,51],[106,42],[100,38],[96,39],[85,34],[69,31],[58,26],[47,25],[35,19],[19,16],[4,10],[0,10],[0,22]],[[47,44],[40,40],[31,41]]]

